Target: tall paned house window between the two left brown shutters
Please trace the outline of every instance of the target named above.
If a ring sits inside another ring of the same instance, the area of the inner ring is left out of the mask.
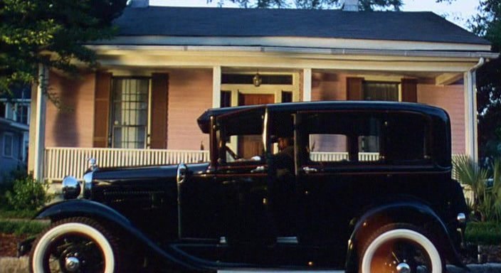
[[[148,78],[112,81],[112,147],[144,149],[147,143]]]

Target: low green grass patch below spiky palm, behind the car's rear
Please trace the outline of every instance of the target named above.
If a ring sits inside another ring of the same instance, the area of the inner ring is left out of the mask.
[[[495,222],[468,223],[465,240],[473,244],[499,245],[501,242],[501,224]]]

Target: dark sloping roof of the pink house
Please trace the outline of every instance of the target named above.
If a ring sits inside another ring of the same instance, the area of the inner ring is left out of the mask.
[[[119,36],[305,37],[490,45],[432,12],[127,7]]]

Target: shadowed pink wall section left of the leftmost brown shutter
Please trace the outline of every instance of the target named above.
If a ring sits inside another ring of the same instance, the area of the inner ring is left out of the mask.
[[[58,109],[47,102],[46,146],[91,147],[94,117],[93,73],[69,78],[56,73],[49,75],[49,92],[60,100]]]

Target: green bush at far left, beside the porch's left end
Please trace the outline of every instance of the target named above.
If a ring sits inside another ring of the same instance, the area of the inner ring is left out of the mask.
[[[48,183],[38,182],[33,176],[18,178],[12,191],[5,193],[9,208],[15,210],[36,210],[45,205],[53,196],[47,193]]]

